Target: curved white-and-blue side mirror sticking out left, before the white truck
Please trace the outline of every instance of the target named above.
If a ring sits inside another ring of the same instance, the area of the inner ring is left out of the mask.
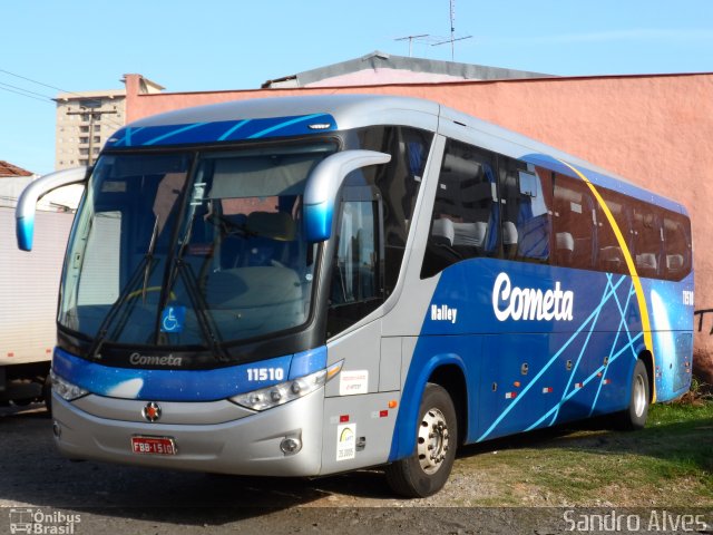
[[[74,167],[45,175],[27,186],[14,208],[14,232],[18,239],[18,247],[22,251],[32,251],[32,237],[35,235],[35,211],[37,202],[52,189],[69,184],[85,182],[88,176],[88,167]]]

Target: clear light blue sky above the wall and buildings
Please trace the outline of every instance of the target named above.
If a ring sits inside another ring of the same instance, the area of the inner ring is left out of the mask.
[[[254,89],[374,50],[450,60],[450,0],[0,3],[0,159],[55,165],[62,91]],[[713,0],[456,0],[455,60],[559,76],[713,72]]]

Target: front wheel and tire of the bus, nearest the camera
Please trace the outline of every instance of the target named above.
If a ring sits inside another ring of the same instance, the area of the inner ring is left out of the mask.
[[[439,385],[426,385],[416,441],[413,455],[387,466],[387,481],[400,496],[424,498],[446,485],[458,445],[456,408]]]

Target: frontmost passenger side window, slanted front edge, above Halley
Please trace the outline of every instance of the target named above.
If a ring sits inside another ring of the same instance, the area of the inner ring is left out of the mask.
[[[441,164],[421,278],[456,262],[497,256],[498,203],[495,156],[448,140]]]

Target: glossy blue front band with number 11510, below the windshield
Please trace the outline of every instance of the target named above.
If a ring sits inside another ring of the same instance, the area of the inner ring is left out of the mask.
[[[215,401],[326,367],[326,347],[213,370],[113,368],[55,350],[55,373],[91,393],[152,401]],[[251,371],[248,371],[251,370]],[[261,370],[265,370],[264,379]]]

